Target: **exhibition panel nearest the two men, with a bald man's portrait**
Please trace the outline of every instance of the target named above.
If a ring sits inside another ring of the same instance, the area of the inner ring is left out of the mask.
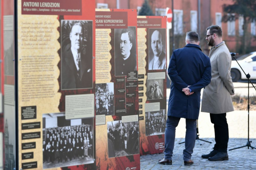
[[[166,16],[138,16],[140,154],[162,153],[166,124]]]

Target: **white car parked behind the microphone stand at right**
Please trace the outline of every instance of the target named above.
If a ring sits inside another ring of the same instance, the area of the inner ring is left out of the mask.
[[[237,58],[238,63],[243,68],[246,74],[250,74],[250,79],[256,79],[256,51]],[[231,62],[231,77],[233,82],[240,79],[247,79],[242,69],[239,67],[235,60]]]

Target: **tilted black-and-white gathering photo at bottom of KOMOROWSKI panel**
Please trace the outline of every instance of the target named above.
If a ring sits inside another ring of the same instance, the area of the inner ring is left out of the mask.
[[[107,122],[109,158],[139,154],[139,122]]]

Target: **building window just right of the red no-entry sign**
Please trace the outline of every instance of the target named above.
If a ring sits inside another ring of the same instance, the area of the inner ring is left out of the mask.
[[[174,34],[183,34],[183,11],[173,10]]]

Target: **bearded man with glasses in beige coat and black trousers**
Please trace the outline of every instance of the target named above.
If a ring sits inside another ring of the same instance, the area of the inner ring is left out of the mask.
[[[209,58],[212,66],[211,83],[203,90],[201,112],[210,113],[214,124],[215,142],[213,151],[202,155],[208,160],[228,160],[228,123],[226,113],[234,111],[231,96],[234,86],[230,76],[231,55],[222,41],[222,29],[210,26],[207,29],[206,40],[212,46]]]

